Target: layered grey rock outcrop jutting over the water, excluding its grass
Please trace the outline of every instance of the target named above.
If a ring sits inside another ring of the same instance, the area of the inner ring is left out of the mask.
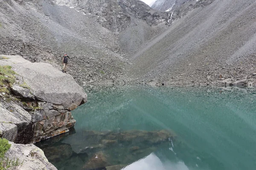
[[[16,72],[16,81],[9,87],[16,100],[1,94],[1,137],[35,143],[75,125],[70,111],[85,103],[87,95],[72,76],[47,63],[32,63],[20,56],[4,58],[0,65],[10,65]]]

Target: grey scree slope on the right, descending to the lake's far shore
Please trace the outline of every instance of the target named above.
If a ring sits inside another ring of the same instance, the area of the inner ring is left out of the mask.
[[[135,54],[129,73],[171,84],[217,85],[220,74],[255,81],[255,9],[254,0],[215,0],[193,9]]]

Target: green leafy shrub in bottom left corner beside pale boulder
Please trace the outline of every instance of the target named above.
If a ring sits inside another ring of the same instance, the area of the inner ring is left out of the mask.
[[[0,138],[0,170],[17,170],[23,164],[18,158],[12,160],[4,156],[10,147],[8,140]]]

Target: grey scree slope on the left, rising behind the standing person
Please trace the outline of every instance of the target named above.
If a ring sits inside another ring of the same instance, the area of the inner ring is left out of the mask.
[[[80,85],[122,72],[116,33],[102,27],[95,17],[50,0],[0,0],[0,6],[1,54],[21,55],[61,69],[61,56],[67,53],[68,71]]]

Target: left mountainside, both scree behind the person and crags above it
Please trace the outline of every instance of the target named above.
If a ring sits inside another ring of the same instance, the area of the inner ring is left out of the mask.
[[[0,0],[0,6],[0,54],[61,69],[61,55],[67,53],[68,71],[80,85],[115,79],[125,83],[125,51],[156,35],[152,26],[164,25],[171,15],[140,0]],[[134,36],[130,48],[122,49],[129,43],[130,27],[145,35]]]

